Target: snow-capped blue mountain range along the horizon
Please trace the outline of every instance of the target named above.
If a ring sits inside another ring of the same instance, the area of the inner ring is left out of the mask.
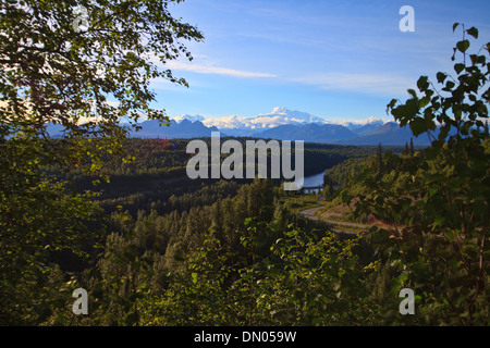
[[[427,136],[415,138],[408,127],[400,127],[395,122],[368,119],[365,122],[330,123],[306,112],[275,108],[271,113],[255,117],[225,116],[221,119],[203,115],[181,115],[170,120],[170,126],[160,126],[159,121],[144,121],[140,129],[130,130],[130,136],[140,138],[201,138],[211,132],[220,132],[221,137],[254,137],[278,140],[304,140],[338,145],[385,145],[404,146],[414,140],[416,146],[428,146]],[[48,133],[60,135],[60,126],[51,125]]]

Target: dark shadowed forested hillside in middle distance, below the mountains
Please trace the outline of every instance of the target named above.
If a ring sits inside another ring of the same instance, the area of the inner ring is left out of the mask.
[[[206,139],[205,139],[206,140]],[[222,141],[225,141],[223,138]],[[237,138],[243,145],[248,138]],[[66,177],[77,190],[96,190],[98,200],[108,212],[117,209],[128,210],[135,216],[138,210],[156,210],[159,214],[173,210],[182,212],[192,207],[209,206],[217,199],[234,196],[242,184],[252,179],[189,179],[186,164],[191,154],[186,153],[189,140],[182,139],[127,139],[124,144],[131,161],[106,161],[97,174],[85,174],[74,169]],[[210,139],[207,139],[210,147]],[[245,146],[244,146],[245,148]],[[332,146],[305,144],[305,176],[318,174],[351,158],[365,158],[376,151],[371,147]],[[246,151],[244,153],[244,159]],[[270,163],[270,152],[269,163]],[[223,154],[222,159],[226,156]],[[269,166],[270,167],[270,166]],[[101,179],[103,175],[108,181]],[[270,170],[268,171],[270,177]],[[94,186],[93,182],[99,185]],[[274,179],[280,185],[280,179]],[[119,208],[118,208],[119,207]]]

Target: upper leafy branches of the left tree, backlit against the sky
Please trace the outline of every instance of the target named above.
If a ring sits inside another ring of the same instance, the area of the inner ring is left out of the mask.
[[[140,116],[164,122],[164,110],[150,108],[149,84],[160,77],[187,86],[166,63],[192,60],[184,41],[204,39],[171,15],[179,2],[2,1],[1,134],[22,130],[48,141],[47,125],[59,124],[65,135],[56,149],[64,151],[56,159],[65,162],[93,148],[81,139],[103,138],[115,151],[125,134],[122,117],[133,127]]]

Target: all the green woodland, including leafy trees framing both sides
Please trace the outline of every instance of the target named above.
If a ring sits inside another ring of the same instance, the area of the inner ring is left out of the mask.
[[[387,104],[427,148],[306,141],[305,175],[327,170],[321,203],[376,222],[344,234],[298,215],[319,195],[191,181],[188,140],[127,137],[121,119],[168,124],[151,79],[188,85],[144,57],[192,60],[181,40],[204,40],[172,1],[135,2],[151,11],[85,1],[86,35],[64,2],[0,2],[0,325],[489,325],[490,42],[469,52],[478,29],[455,23],[454,72]]]

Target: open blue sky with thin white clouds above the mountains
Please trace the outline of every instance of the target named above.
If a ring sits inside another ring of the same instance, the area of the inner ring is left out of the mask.
[[[414,9],[414,32],[403,5]],[[254,117],[275,107],[326,121],[388,115],[419,76],[453,72],[455,22],[479,30],[475,52],[490,39],[490,1],[186,0],[173,16],[196,26],[204,42],[186,42],[194,60],[169,62],[189,87],[151,84],[152,107],[170,117]],[[457,57],[456,57],[457,58]]]

